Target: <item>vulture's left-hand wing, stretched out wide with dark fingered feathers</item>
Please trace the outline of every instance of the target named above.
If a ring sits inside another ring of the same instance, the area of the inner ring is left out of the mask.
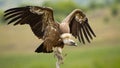
[[[51,8],[43,8],[38,6],[26,6],[11,8],[5,11],[5,20],[9,20],[8,24],[29,24],[33,33],[38,38],[43,38],[45,28],[54,23],[53,10]]]

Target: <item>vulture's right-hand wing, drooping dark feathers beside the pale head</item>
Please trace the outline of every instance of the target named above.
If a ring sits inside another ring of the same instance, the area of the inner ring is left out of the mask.
[[[88,23],[88,18],[80,9],[75,9],[64,21],[69,23],[70,33],[75,38],[78,38],[80,42],[85,44],[86,39],[90,43],[90,40],[96,37]]]

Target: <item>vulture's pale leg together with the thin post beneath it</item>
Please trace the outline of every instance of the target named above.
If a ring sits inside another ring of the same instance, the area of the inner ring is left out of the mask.
[[[63,64],[62,48],[56,47],[54,49],[54,56],[57,58],[56,68],[60,68],[60,64]]]

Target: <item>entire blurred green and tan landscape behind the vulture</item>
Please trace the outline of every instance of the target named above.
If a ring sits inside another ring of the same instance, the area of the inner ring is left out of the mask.
[[[91,44],[66,46],[61,68],[120,68],[120,0],[0,0],[0,68],[55,68],[53,54],[34,52],[41,40],[28,25],[3,19],[6,9],[27,5],[52,7],[59,22],[76,8],[86,13],[97,37]]]

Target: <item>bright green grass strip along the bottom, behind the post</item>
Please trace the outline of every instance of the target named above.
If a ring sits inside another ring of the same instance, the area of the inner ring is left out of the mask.
[[[61,68],[120,68],[120,46],[104,48],[66,48],[68,54]],[[53,54],[4,54],[1,68],[55,68]]]

